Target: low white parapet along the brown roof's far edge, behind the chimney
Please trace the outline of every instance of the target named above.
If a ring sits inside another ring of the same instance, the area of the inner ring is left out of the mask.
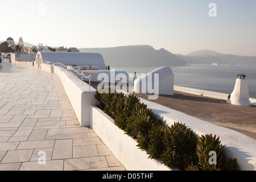
[[[195,94],[198,96],[203,96],[206,97],[212,97],[212,98],[219,98],[222,100],[228,100],[229,94],[226,93],[219,93],[219,92],[212,92],[208,90],[200,90],[200,89],[194,89],[194,88],[188,88],[184,86],[176,86],[174,85],[174,90],[179,91],[179,92],[185,92],[185,93],[190,93],[190,94]],[[256,98],[249,98],[251,105],[256,105]]]

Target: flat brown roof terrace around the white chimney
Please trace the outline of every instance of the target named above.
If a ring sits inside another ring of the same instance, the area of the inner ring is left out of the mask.
[[[148,100],[149,94],[136,95]],[[175,90],[173,96],[160,95],[157,100],[150,101],[256,139],[255,105],[250,107],[231,105],[227,104],[226,100]]]

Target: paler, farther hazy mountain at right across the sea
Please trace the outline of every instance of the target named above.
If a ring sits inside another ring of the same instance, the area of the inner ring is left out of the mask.
[[[203,50],[191,52],[188,55],[176,55],[188,64],[252,64],[256,65],[256,57],[226,55],[215,51]]]

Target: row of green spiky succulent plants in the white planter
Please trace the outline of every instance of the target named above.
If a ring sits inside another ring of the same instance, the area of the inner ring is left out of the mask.
[[[179,122],[163,127],[162,120],[156,119],[134,94],[125,96],[108,88],[97,90],[94,97],[115,125],[137,138],[137,146],[147,152],[148,158],[160,156],[166,166],[187,171],[238,169],[236,159],[224,160],[219,138],[210,134],[197,139],[191,129]],[[209,164],[209,151],[217,152],[217,165]]]

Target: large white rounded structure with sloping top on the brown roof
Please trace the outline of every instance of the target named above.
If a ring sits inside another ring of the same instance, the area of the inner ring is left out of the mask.
[[[161,67],[134,81],[135,93],[149,93],[164,95],[174,94],[174,73],[170,67]]]

